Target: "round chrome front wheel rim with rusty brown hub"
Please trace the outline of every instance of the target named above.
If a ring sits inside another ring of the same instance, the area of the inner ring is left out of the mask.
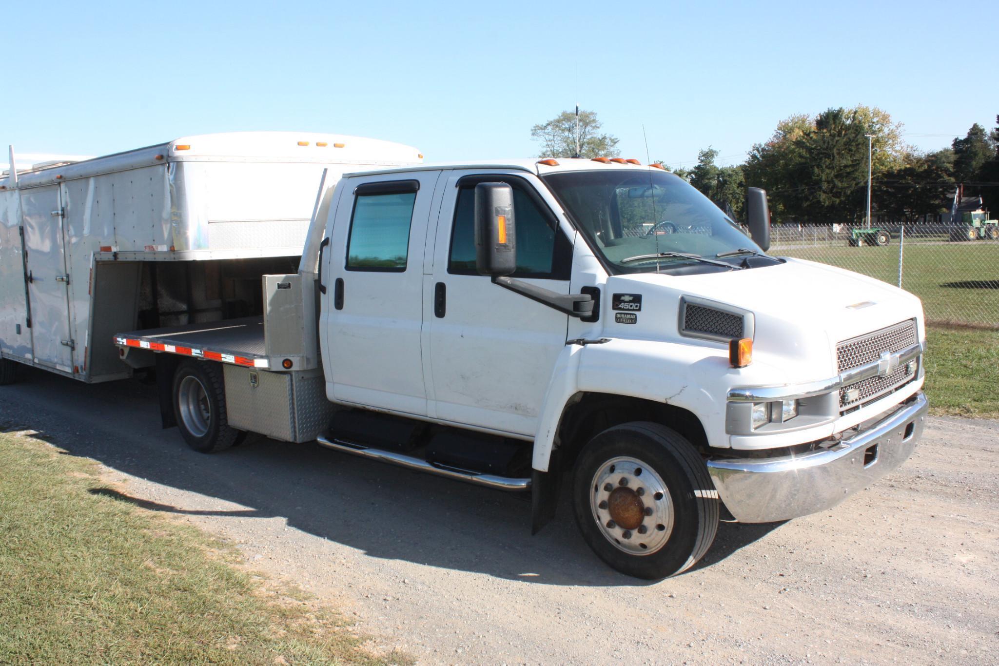
[[[673,531],[669,490],[638,458],[610,458],[599,466],[589,484],[589,509],[600,533],[629,555],[651,555]]]

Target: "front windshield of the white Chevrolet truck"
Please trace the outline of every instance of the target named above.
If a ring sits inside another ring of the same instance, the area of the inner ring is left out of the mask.
[[[590,246],[615,273],[647,273],[737,250],[762,252],[686,181],[650,169],[543,176]],[[665,256],[662,255],[673,256]]]

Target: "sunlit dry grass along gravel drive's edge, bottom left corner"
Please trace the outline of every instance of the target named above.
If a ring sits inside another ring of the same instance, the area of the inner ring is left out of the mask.
[[[0,433],[0,663],[383,663],[332,611],[123,497],[93,461]]]

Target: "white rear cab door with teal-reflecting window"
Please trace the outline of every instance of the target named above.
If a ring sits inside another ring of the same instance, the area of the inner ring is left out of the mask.
[[[340,198],[321,332],[336,400],[427,415],[424,250],[440,174],[375,176]]]

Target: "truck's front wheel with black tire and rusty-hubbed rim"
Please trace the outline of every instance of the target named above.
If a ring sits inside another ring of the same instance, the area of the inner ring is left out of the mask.
[[[626,465],[623,473],[617,464]],[[653,492],[660,483],[663,491]],[[618,492],[625,493],[617,498],[621,501],[615,501]],[[623,505],[623,512],[612,515],[607,500]],[[636,578],[657,580],[688,569],[718,530],[717,492],[700,455],[674,430],[648,421],[615,425],[583,447],[573,470],[572,504],[593,552]]]

